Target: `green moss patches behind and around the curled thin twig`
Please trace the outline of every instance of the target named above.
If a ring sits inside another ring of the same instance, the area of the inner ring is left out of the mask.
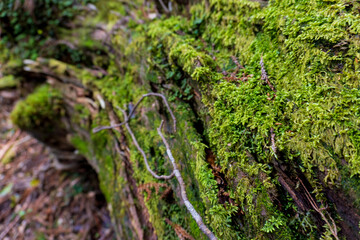
[[[145,153],[147,153],[151,168],[158,174],[169,174],[172,167],[169,160],[164,157],[166,152],[162,144],[160,144],[161,139],[156,131],[156,127],[160,124],[161,118],[156,113],[156,110],[151,107],[152,102],[152,99],[147,99],[143,103],[143,106],[149,105],[149,108],[145,108],[147,110],[143,113],[141,118],[136,117],[133,119],[130,126],[132,129],[136,129],[134,134],[136,135],[140,146],[144,149]],[[196,182],[191,181],[191,179],[194,179],[191,166],[194,154],[193,149],[189,144],[191,141],[199,140],[199,136],[191,127],[190,122],[188,122],[193,116],[185,104],[178,102],[175,114],[179,121],[179,124],[177,125],[177,134],[169,135],[167,138],[170,139],[172,148],[175,149],[173,154],[179,163],[178,166],[181,168],[183,178],[186,180],[189,200],[194,207],[202,213],[204,211],[204,206],[198,194]],[[184,139],[186,139],[186,141],[184,141]],[[136,181],[139,184],[158,182],[146,171],[143,158],[134,145],[131,145],[130,150],[134,170],[133,176]],[[178,188],[176,180],[171,180],[169,184],[173,189]],[[173,197],[175,199],[173,203],[171,203],[171,201],[167,202],[164,199],[160,199],[160,196],[156,195],[152,195],[151,199],[146,202],[146,206],[150,213],[150,220],[159,239],[173,239],[176,237],[174,230],[168,224],[165,224],[165,218],[169,218],[172,222],[184,227],[194,237],[203,239],[196,222],[189,216],[185,206],[179,204],[181,202],[179,193],[175,192]]]

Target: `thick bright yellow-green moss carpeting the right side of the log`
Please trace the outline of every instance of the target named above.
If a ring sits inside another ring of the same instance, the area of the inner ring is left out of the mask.
[[[301,169],[314,192],[322,191],[319,180],[339,186],[340,178],[352,176],[357,182],[359,98],[354,59],[358,59],[359,46],[357,28],[351,27],[357,26],[356,6],[340,1],[273,1],[261,8],[248,1],[210,1],[209,7],[211,11],[194,6],[191,21],[171,17],[151,23],[147,33],[153,56],[150,64],[167,82],[180,71],[198,80],[205,90],[203,103],[212,117],[210,147],[216,150],[226,178],[234,183],[236,201],[245,211],[243,221],[254,229],[244,234],[261,238],[264,235],[259,230],[270,226],[268,220],[277,211],[268,196],[277,191],[271,165],[278,156],[270,151],[271,128],[281,161]],[[245,66],[237,73],[239,78],[249,76],[245,83],[229,82],[219,74],[234,71],[231,56]],[[273,99],[271,89],[260,79],[261,56],[277,89]],[[340,173],[339,168],[351,174]],[[194,170],[195,175],[200,174],[199,183],[201,175],[211,174],[206,164],[200,169]],[[324,172],[325,177],[318,179],[316,171]],[[207,179],[200,184],[203,199],[211,199],[204,187],[211,182]],[[214,193],[215,185],[209,188]],[[323,199],[321,194],[317,197]],[[212,199],[208,209],[217,206],[216,196]],[[209,219],[226,223],[223,216],[233,216],[232,210],[209,213]],[[216,230],[220,225],[213,225],[218,236],[229,231],[226,226]],[[291,236],[297,234],[295,229],[295,225],[284,225],[277,232]]]

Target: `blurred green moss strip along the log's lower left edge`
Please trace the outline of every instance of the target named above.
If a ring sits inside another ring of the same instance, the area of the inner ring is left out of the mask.
[[[80,106],[77,108],[82,109]],[[81,114],[81,112],[77,113]],[[83,125],[83,128],[90,131],[99,125],[109,125],[108,117],[104,112],[93,119],[91,126]],[[75,135],[71,138],[71,143],[98,170],[100,189],[109,204],[112,219],[123,226],[122,236],[131,239],[133,233],[126,215],[129,202],[127,193],[124,191],[128,183],[124,180],[124,169],[121,169],[123,168],[122,160],[115,151],[113,135],[106,131],[90,134],[90,136]]]

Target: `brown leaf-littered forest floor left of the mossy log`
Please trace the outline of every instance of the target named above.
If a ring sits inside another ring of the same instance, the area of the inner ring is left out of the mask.
[[[52,167],[49,149],[11,123],[18,99],[0,91],[0,240],[114,239],[96,173]]]

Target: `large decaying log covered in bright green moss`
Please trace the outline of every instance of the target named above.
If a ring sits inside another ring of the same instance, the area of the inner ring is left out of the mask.
[[[130,126],[168,175],[156,131],[165,120],[189,201],[218,239],[359,239],[359,10],[342,0],[99,0],[58,42],[85,62],[14,64],[4,51],[10,73],[47,82],[13,120],[89,161],[120,239],[205,239],[177,181],[147,171],[123,126],[92,132],[124,121],[117,107],[130,112],[148,92],[166,96],[177,132],[155,98]]]

